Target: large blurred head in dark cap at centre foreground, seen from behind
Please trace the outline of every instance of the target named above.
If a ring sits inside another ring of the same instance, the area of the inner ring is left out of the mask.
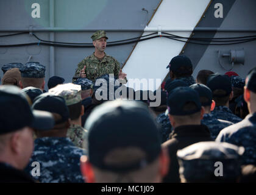
[[[88,156],[81,157],[87,182],[161,182],[168,170],[154,118],[139,101],[108,101],[95,108],[88,129]]]

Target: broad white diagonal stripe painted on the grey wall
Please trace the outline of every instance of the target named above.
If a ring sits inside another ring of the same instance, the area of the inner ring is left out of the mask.
[[[170,29],[169,34],[190,37],[209,2],[210,0],[163,0],[151,22],[144,29],[143,35],[151,34],[152,32],[147,31],[151,28],[158,28],[165,29],[165,32],[166,29]],[[139,90],[138,87],[129,85],[129,79],[154,79],[154,82],[160,79],[162,82],[169,71],[166,66],[172,57],[180,54],[184,44],[165,37],[139,42],[123,68],[123,72],[127,74],[127,86]],[[154,90],[160,87],[161,82],[154,84]],[[152,90],[141,85],[140,90],[148,89]]]

